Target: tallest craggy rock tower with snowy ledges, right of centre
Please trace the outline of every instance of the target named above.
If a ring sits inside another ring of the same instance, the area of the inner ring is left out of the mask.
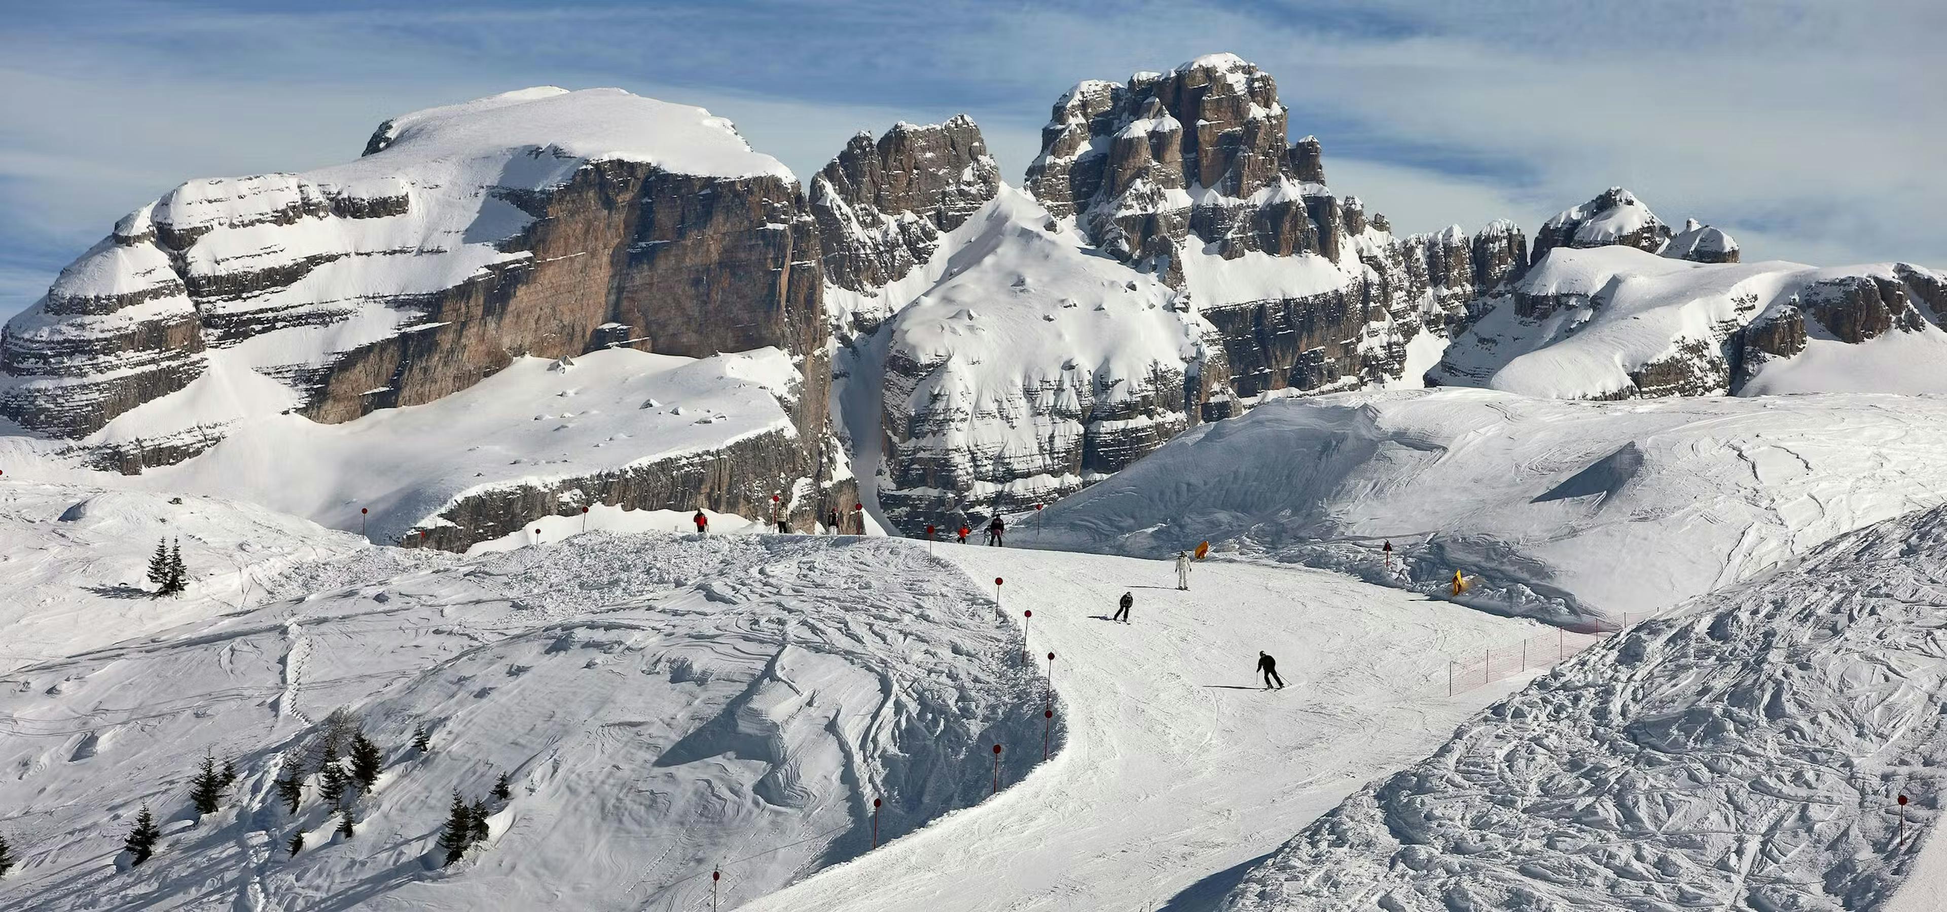
[[[1394,237],[1384,216],[1326,187],[1318,138],[1287,144],[1285,132],[1275,80],[1211,54],[1075,86],[1028,167],[1051,214],[1184,290],[1213,325],[1231,383],[1197,410],[1207,418],[1240,408],[1232,389],[1400,381],[1415,336],[1431,333],[1437,350],[1466,301],[1526,270],[1526,237],[1509,222]]]

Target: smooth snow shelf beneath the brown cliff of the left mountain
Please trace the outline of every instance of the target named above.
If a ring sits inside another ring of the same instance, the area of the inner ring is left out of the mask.
[[[212,354],[220,358],[224,352]],[[173,426],[179,418],[152,412],[197,403],[193,393],[222,375],[204,373],[183,395],[134,408],[109,430],[123,422]],[[794,436],[785,408],[796,383],[796,368],[777,348],[715,358],[607,348],[572,364],[518,358],[454,395],[343,424],[257,414],[197,459],[134,478],[78,471],[56,441],[0,438],[0,451],[10,474],[25,478],[245,498],[397,543],[411,529],[442,523],[440,513],[471,494],[623,471],[759,434]]]

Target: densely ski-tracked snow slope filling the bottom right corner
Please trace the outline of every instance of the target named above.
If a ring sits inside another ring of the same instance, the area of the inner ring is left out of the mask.
[[[1943,609],[1947,509],[1826,543],[1556,667],[1223,910],[1885,908],[1943,799]]]

